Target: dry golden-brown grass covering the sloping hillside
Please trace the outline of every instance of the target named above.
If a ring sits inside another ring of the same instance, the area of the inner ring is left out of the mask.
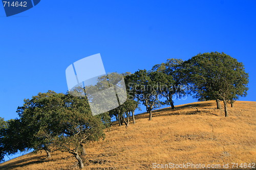
[[[199,109],[190,108],[189,106]],[[214,101],[198,102],[137,115],[125,129],[106,129],[104,141],[87,145],[86,169],[154,169],[152,164],[255,162],[256,102],[237,101],[234,108],[215,109]],[[55,152],[27,154],[0,164],[0,169],[76,169],[75,158]],[[189,169],[189,168],[188,168]]]

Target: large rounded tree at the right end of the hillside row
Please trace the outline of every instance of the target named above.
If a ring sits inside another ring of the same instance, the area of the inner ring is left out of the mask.
[[[227,102],[247,94],[248,74],[244,65],[227,54],[198,54],[184,65],[190,81],[194,83],[194,97],[199,100],[222,100],[225,117],[228,116]]]

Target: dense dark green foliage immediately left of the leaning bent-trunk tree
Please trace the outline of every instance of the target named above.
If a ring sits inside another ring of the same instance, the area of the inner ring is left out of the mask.
[[[31,100],[24,100],[24,105],[18,107],[17,113],[23,127],[22,138],[26,148],[34,150],[51,150],[55,136],[61,131],[61,113],[65,95],[48,91],[38,93]]]

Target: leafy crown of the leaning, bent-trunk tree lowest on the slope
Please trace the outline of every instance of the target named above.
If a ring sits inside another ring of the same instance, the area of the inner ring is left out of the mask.
[[[104,138],[104,125],[97,116],[74,110],[69,110],[66,114],[68,114],[67,117],[72,118],[63,119],[62,125],[65,131],[54,141],[56,150],[72,152],[77,150],[81,143]]]

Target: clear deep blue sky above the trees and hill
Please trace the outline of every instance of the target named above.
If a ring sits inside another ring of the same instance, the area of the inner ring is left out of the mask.
[[[106,72],[224,52],[243,62],[255,101],[256,1],[46,1],[6,17],[0,4],[0,117],[38,92],[66,92],[65,70],[100,53]],[[175,104],[195,100],[181,100]]]

